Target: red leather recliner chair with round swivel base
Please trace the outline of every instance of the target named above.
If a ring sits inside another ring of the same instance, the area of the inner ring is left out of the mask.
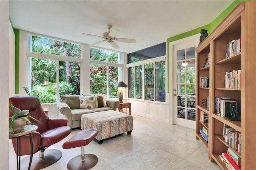
[[[67,137],[71,129],[67,126],[68,119],[66,118],[52,118],[50,119],[48,115],[44,112],[40,100],[37,96],[15,96],[9,98],[9,102],[21,110],[29,110],[29,115],[36,118],[38,121],[29,118],[32,125],[37,125],[37,131],[32,133],[33,140],[33,154],[39,152],[38,156],[33,156],[31,169],[42,169],[58,161],[62,152],[57,149],[47,149],[50,145],[58,143],[65,137]],[[9,117],[12,116],[12,113],[9,112]],[[16,149],[16,138],[12,139],[12,144],[16,154],[18,150]],[[19,147],[18,147],[19,148]],[[30,138],[29,135],[20,138],[20,154],[29,155],[30,154]],[[20,166],[21,169],[28,169],[28,163],[30,156],[25,157],[21,160]]]

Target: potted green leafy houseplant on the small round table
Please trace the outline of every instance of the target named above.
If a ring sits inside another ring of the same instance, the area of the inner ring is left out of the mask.
[[[9,118],[10,119],[10,128],[12,130],[12,133],[14,133],[13,122],[14,122],[15,119],[22,118],[22,119],[25,119],[26,121],[28,121],[29,123],[31,123],[30,120],[28,119],[28,117],[30,117],[30,118],[38,121],[34,117],[28,115],[29,110],[22,110],[21,111],[19,108],[14,107],[11,103],[9,103],[9,105],[12,107],[12,109],[9,108],[9,110],[13,114],[13,116]]]

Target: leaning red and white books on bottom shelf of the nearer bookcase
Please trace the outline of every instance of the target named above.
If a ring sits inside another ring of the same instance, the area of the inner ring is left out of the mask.
[[[242,166],[241,158],[232,149],[221,153],[220,159],[229,170],[240,170]]]

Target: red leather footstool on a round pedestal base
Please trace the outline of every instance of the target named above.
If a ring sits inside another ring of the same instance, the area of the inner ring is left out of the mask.
[[[97,156],[94,154],[84,154],[84,146],[88,145],[97,134],[98,129],[82,130],[62,145],[63,149],[82,147],[81,155],[75,156],[68,161],[69,170],[87,170],[97,164]]]

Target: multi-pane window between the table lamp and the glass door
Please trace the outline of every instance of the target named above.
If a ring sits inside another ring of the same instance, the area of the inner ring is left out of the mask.
[[[165,57],[159,57],[158,60],[158,62],[128,68],[129,98],[159,102],[166,101]]]

